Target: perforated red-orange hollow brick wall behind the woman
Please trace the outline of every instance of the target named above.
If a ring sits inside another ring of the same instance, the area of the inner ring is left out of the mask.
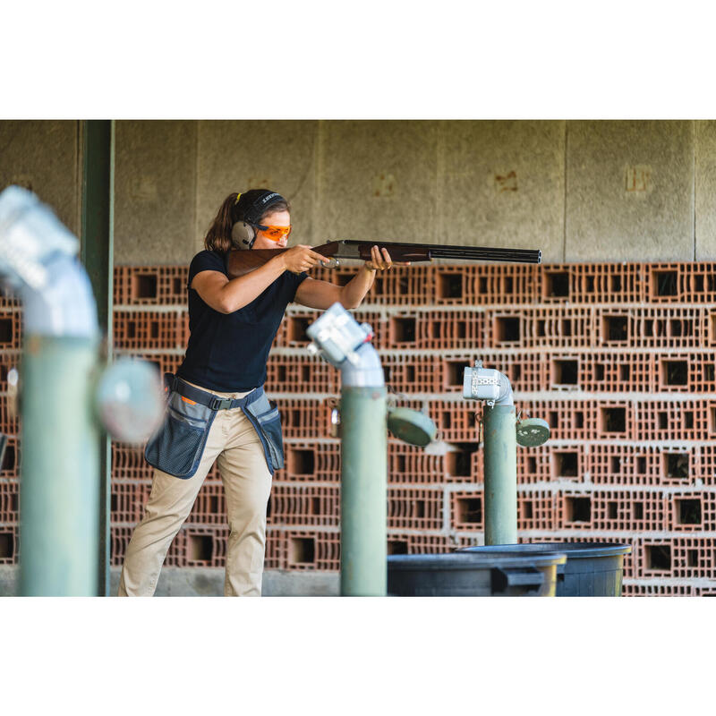
[[[354,269],[321,273],[345,283]],[[115,352],[160,371],[183,357],[184,267],[115,268]],[[482,541],[482,406],[461,397],[481,358],[512,381],[523,416],[550,441],[518,447],[521,541],[629,543],[627,595],[716,593],[716,263],[431,265],[378,277],[354,311],[371,323],[401,405],[427,405],[456,450],[388,441],[388,551],[444,552]],[[340,374],[305,350],[316,311],[292,306],[268,362],[286,469],[275,476],[266,568],[336,570],[340,446],[329,430]],[[16,364],[21,311],[0,311],[0,378]],[[0,563],[17,560],[17,422],[0,472]],[[113,444],[112,562],[149,494],[141,447]],[[167,565],[223,566],[216,467]]]

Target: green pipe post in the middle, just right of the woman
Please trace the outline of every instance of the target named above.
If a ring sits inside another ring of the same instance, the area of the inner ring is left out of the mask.
[[[386,388],[341,391],[341,595],[388,588]]]

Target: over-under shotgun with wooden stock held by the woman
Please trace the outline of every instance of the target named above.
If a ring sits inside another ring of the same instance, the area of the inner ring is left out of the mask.
[[[394,261],[430,261],[432,259],[461,259],[473,261],[516,261],[519,263],[541,263],[539,249],[485,249],[478,246],[447,246],[439,243],[403,243],[395,241],[352,241],[340,239],[311,246],[337,266],[341,259],[367,261],[371,259],[371,246],[387,248]],[[263,266],[268,260],[288,249],[252,249],[251,251],[229,251],[226,268],[229,278],[249,273]]]

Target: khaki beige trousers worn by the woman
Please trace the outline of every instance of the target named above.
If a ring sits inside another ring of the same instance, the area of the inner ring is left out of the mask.
[[[248,395],[210,392],[232,398]],[[271,473],[256,430],[243,410],[234,408],[217,412],[199,469],[191,478],[181,480],[155,469],[144,517],[132,533],[124,556],[118,596],[154,594],[166,551],[192,511],[215,460],[224,482],[229,524],[224,595],[261,595]]]

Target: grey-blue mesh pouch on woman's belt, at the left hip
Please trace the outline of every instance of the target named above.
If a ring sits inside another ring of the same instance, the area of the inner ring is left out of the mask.
[[[199,468],[216,411],[205,405],[183,407],[182,396],[173,393],[164,421],[149,438],[144,459],[163,473],[186,480]]]

